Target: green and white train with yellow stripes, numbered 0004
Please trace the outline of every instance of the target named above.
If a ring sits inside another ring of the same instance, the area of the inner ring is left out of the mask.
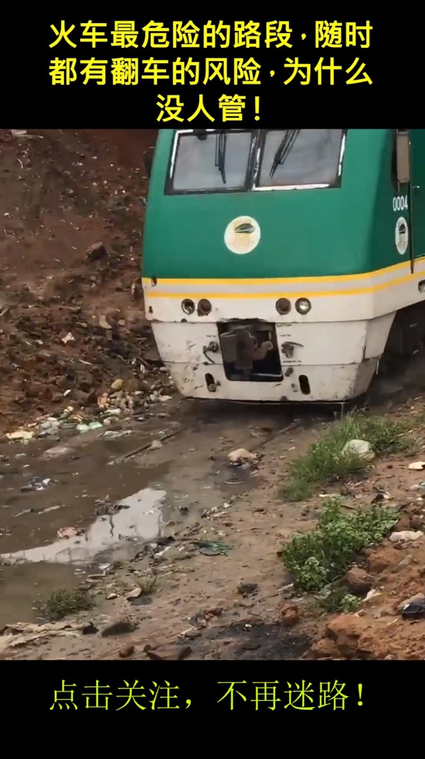
[[[346,402],[425,340],[425,130],[161,130],[146,317],[186,398]]]

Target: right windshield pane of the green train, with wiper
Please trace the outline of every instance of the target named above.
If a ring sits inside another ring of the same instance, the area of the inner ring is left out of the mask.
[[[258,187],[339,184],[342,129],[267,131]]]

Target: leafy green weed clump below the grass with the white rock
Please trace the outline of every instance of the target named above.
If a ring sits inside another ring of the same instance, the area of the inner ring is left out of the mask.
[[[326,603],[330,594],[338,590],[336,583],[358,553],[379,543],[397,519],[398,511],[391,506],[377,505],[346,512],[341,499],[330,498],[317,527],[295,535],[283,548],[283,564],[292,575],[295,587],[301,591],[321,592],[321,600]],[[344,595],[347,591],[339,595],[339,603]]]

